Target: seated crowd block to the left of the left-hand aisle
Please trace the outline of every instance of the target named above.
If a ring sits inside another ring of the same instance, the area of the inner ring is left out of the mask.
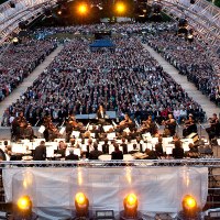
[[[56,46],[52,40],[23,38],[18,45],[10,44],[1,48],[0,101],[9,96]]]

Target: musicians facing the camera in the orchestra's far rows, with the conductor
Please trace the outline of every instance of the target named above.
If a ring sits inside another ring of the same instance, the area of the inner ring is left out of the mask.
[[[103,131],[103,127],[109,123],[100,123],[99,118],[103,119],[106,116],[106,111],[102,106],[99,107],[97,111],[98,121],[95,119],[90,121],[90,128],[85,125],[81,122],[76,120],[74,114],[67,118],[65,123],[65,140],[69,142],[73,138],[73,131],[80,132],[80,136],[90,138],[91,134],[98,139],[106,139],[108,133],[116,132],[117,136],[136,136],[142,135],[143,133],[151,133],[152,136],[156,136],[158,134],[158,124],[153,121],[152,116],[148,116],[147,119],[142,121],[142,124],[139,125],[134,123],[134,121],[129,117],[128,113],[124,114],[124,119],[120,121],[118,124],[113,122],[113,125],[108,131]],[[211,134],[216,131],[216,124],[219,123],[217,116],[210,119],[210,128],[207,129],[207,132]],[[96,128],[96,125],[98,128]],[[176,120],[173,118],[173,114],[168,114],[168,119],[166,121],[162,121],[162,125],[164,125],[163,136],[174,136],[176,133]],[[43,136],[46,141],[53,141],[55,139],[62,138],[63,134],[59,133],[58,128],[52,122],[52,118],[50,116],[45,116],[43,119],[42,125],[44,127]],[[136,128],[138,127],[138,128]],[[193,116],[188,117],[188,120],[184,123],[183,136],[189,135],[191,132],[197,132],[197,125],[194,121]],[[125,134],[124,134],[125,133]],[[12,123],[12,134],[15,136],[15,141],[21,139],[33,139],[33,129],[30,123],[28,123],[26,119],[23,116],[23,112],[20,112],[19,117],[14,119]]]

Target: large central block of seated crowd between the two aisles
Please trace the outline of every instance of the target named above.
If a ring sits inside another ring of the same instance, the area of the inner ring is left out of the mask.
[[[9,120],[23,111],[32,125],[42,124],[47,114],[62,124],[69,113],[96,113],[100,105],[117,111],[119,118],[127,112],[132,119],[152,116],[158,123],[175,110],[179,120],[189,113],[204,117],[201,107],[163,70],[139,37],[113,41],[114,52],[90,52],[85,37],[67,42],[33,86],[9,107]]]

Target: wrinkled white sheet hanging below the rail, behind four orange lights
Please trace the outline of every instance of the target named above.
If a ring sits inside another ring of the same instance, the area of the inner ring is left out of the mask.
[[[204,207],[208,194],[208,169],[195,167],[42,167],[3,169],[6,201],[22,195],[33,200],[43,219],[69,217],[76,193],[87,195],[90,210],[123,210],[123,199],[134,193],[144,215],[180,210],[185,195]]]

